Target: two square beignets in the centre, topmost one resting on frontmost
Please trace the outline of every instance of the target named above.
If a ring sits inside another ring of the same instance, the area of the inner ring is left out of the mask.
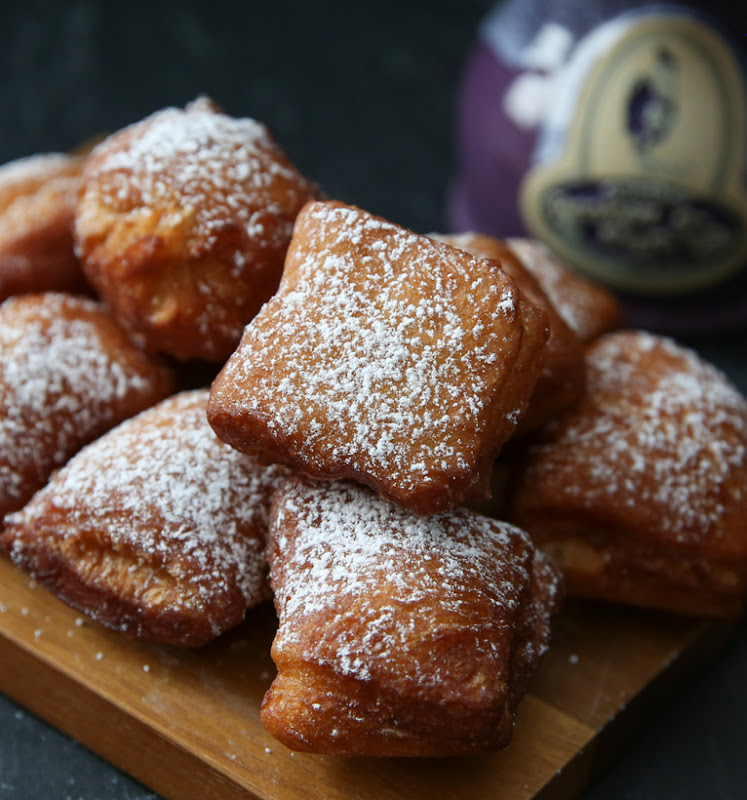
[[[548,335],[499,262],[340,202],[299,214],[208,405],[225,441],[298,470],[273,501],[262,706],[288,746],[508,744],[560,577],[523,532],[456,507],[484,493]]]

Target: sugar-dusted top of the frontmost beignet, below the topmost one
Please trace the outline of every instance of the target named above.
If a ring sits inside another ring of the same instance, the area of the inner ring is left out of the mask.
[[[342,675],[402,670],[436,686],[449,667],[429,648],[471,631],[468,657],[492,665],[492,682],[507,668],[517,617],[549,616],[527,607],[534,556],[523,531],[474,512],[417,516],[353,483],[290,479],[268,545],[276,661],[282,669],[284,652],[301,647],[297,658]],[[538,657],[540,645],[520,657]]]

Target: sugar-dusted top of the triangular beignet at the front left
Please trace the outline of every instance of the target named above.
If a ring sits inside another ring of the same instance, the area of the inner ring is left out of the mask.
[[[105,558],[146,564],[188,590],[171,596],[175,604],[209,602],[233,585],[247,605],[264,599],[270,495],[284,470],[223,444],[206,403],[207,390],[186,392],[122,423],[10,515],[10,528],[84,549],[93,542]],[[25,546],[15,539],[16,560]]]

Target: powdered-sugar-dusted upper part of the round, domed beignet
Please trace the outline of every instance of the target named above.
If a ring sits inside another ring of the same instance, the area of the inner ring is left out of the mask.
[[[223,114],[200,98],[185,109],[157,111],[94,150],[76,228],[96,230],[87,215],[101,205],[144,214],[171,209],[191,220],[192,255],[236,225],[255,246],[277,247],[290,239],[288,207],[297,208],[310,191],[262,123]]]

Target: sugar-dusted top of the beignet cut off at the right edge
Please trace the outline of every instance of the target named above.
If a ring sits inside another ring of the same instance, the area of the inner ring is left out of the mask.
[[[695,352],[643,331],[597,340],[587,381],[581,410],[533,448],[527,484],[550,479],[589,508],[614,498],[654,509],[657,529],[677,541],[719,535],[726,510],[747,500],[739,391]]]

